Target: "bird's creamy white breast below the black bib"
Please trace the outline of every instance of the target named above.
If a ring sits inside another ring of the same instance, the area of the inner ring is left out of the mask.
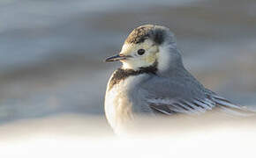
[[[131,90],[134,89],[136,83],[141,81],[142,76],[143,75],[129,76],[114,85],[111,90],[107,89],[106,91],[105,114],[109,125],[114,129],[115,133],[124,133],[133,120],[132,105],[134,102],[130,97]]]

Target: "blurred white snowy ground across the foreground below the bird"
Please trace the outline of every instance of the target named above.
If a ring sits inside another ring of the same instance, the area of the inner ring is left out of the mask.
[[[102,118],[66,114],[0,127],[3,157],[255,157],[252,118],[147,119],[140,133],[115,136]],[[160,123],[158,123],[160,122]],[[151,130],[151,131],[148,131]],[[146,131],[148,131],[146,133]]]

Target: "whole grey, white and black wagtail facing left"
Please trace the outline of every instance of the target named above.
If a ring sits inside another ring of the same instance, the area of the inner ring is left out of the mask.
[[[116,133],[139,114],[247,111],[207,90],[184,68],[167,27],[139,26],[125,39],[120,54],[106,61],[123,63],[111,75],[105,96],[106,117]]]

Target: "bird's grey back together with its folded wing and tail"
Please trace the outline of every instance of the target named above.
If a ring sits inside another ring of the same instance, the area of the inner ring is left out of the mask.
[[[184,68],[173,68],[171,73],[152,75],[137,89],[143,91],[139,98],[144,99],[144,104],[150,106],[154,111],[163,114],[174,113],[200,113],[214,108],[226,108],[230,111],[248,112],[248,110],[237,104],[232,104],[224,97],[215,92],[207,90]]]

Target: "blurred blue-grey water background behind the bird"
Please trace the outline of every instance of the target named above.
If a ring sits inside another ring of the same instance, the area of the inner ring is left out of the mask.
[[[120,63],[103,59],[145,24],[176,34],[207,88],[256,103],[255,0],[1,0],[0,124],[72,114],[64,120],[100,116],[107,128],[104,93]]]

